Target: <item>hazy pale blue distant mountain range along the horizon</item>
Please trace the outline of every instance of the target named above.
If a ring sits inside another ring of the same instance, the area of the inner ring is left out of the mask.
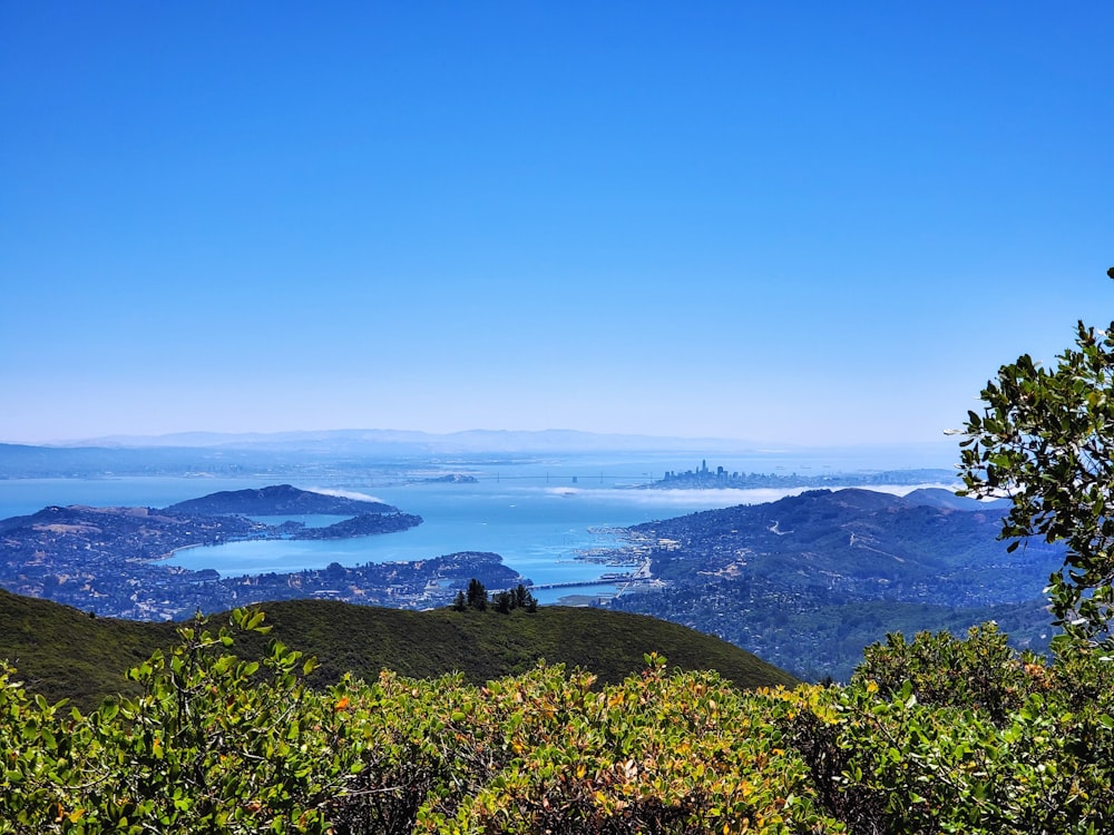
[[[367,472],[369,463],[390,466],[446,460],[476,464],[515,463],[560,455],[745,455],[755,459],[830,458],[849,471],[946,468],[954,444],[810,448],[730,439],[596,434],[574,430],[539,432],[473,430],[431,434],[395,430],[336,430],[222,434],[113,435],[52,444],[0,443],[0,478],[96,478],[101,475],[222,475],[284,473],[322,478]]]

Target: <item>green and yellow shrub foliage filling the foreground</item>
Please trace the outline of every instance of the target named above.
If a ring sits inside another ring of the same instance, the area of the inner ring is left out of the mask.
[[[180,630],[82,715],[0,678],[3,833],[1093,833],[1114,821],[1111,661],[993,626],[892,636],[844,687],[742,691],[540,665],[477,687]]]

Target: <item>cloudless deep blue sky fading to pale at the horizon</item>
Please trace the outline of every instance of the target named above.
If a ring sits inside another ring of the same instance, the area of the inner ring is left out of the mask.
[[[935,440],[1114,318],[1114,3],[0,0],[0,441]]]

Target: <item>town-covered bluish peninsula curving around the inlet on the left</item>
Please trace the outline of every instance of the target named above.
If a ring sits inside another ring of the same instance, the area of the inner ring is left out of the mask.
[[[289,518],[275,524],[258,520],[319,514],[351,515],[317,528]],[[354,568],[334,562],[314,571],[235,578],[165,561],[183,548],[244,540],[346,539],[404,531],[421,521],[381,502],[289,484],[213,493],[162,509],[52,505],[0,520],[0,587],[97,615],[166,620],[303,597],[427,608],[451,602],[471,578],[492,589],[525,580],[498,554],[486,552]]]

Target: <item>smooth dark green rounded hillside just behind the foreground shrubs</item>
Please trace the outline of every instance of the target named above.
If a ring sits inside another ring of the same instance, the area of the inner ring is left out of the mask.
[[[276,638],[316,656],[315,684],[345,671],[374,678],[382,669],[429,678],[459,671],[475,682],[525,671],[539,659],[580,667],[617,682],[658,652],[671,666],[715,669],[742,688],[797,684],[789,674],[719,638],[655,618],[600,609],[541,607],[537,612],[403,611],[324,600],[261,607]],[[224,622],[225,616],[212,620]],[[128,691],[124,672],[159,647],[176,623],[94,618],[59,603],[0,589],[0,659],[28,689],[88,708]],[[245,636],[237,654],[258,656],[266,640]]]

